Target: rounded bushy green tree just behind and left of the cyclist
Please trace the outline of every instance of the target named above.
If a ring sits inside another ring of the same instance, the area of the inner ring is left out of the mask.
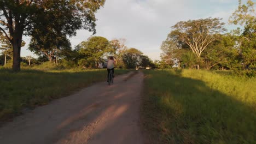
[[[103,57],[107,56],[109,53],[113,53],[114,49],[110,47],[109,41],[104,37],[90,37],[86,41],[82,41],[78,46],[81,59],[79,64],[85,65],[86,67],[96,67],[98,68],[100,62],[103,61]]]

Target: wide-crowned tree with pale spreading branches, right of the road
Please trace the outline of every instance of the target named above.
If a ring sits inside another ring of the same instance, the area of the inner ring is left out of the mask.
[[[226,31],[219,18],[181,21],[172,26],[171,37],[187,44],[191,51],[200,58],[202,52],[217,39],[216,34]],[[199,68],[199,65],[197,65]]]

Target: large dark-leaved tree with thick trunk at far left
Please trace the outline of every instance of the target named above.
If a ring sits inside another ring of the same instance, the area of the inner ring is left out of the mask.
[[[81,28],[95,33],[95,13],[103,6],[104,2],[104,0],[0,1],[0,30],[13,46],[13,70],[20,70],[22,36],[31,34],[33,29],[37,28],[37,23],[45,20],[38,19],[42,18],[43,14],[55,14],[49,17],[53,21],[60,15],[63,16],[62,19],[72,22],[60,27],[63,33],[69,34],[69,36],[75,35],[75,30]],[[58,23],[53,21],[51,23]]]

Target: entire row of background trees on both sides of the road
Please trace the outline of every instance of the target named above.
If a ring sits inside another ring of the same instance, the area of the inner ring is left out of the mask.
[[[124,39],[90,37],[74,49],[68,37],[78,29],[96,33],[95,13],[104,0],[82,1],[0,1],[0,65],[49,62],[65,67],[99,68],[114,56],[119,68],[232,69],[256,68],[256,18],[251,0],[239,5],[229,22],[243,28],[226,32],[222,19],[180,21],[172,26],[161,45],[161,61],[152,61],[135,48],[125,46]],[[54,22],[53,22],[54,21]],[[31,37],[28,49],[38,56],[20,57],[23,35]]]

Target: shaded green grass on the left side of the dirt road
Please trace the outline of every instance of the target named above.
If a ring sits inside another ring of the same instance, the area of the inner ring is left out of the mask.
[[[115,70],[124,74],[129,70]],[[26,69],[14,73],[0,69],[0,121],[15,116],[25,107],[35,107],[50,100],[65,97],[73,91],[107,79],[102,70],[50,70]],[[107,85],[107,84],[106,84]]]

